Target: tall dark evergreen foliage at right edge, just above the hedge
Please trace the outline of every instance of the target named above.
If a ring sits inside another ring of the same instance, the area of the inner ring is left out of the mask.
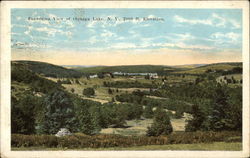
[[[215,131],[241,130],[242,128],[242,90],[229,89],[218,84],[214,94],[211,126]]]

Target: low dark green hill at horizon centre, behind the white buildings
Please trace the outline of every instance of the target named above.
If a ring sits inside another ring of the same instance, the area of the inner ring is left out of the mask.
[[[75,68],[80,72],[86,74],[95,74],[100,72],[128,72],[128,73],[146,73],[155,72],[158,74],[165,74],[176,70],[181,70],[169,66],[160,65],[128,65],[128,66],[98,66],[98,67],[78,67]]]

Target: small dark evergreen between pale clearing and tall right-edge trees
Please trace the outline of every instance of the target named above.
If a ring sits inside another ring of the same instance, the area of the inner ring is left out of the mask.
[[[185,130],[188,132],[201,130],[202,124],[205,120],[205,114],[197,104],[194,104],[192,106],[191,114],[193,116],[193,119],[188,121]]]

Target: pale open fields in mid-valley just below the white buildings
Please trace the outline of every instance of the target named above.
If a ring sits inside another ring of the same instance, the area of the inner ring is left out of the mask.
[[[52,81],[56,81],[57,79],[55,78],[47,78]],[[116,95],[119,95],[121,93],[132,93],[135,90],[141,90],[141,91],[149,91],[149,88],[112,88],[113,94],[108,93],[108,87],[103,86],[103,82],[115,82],[115,81],[124,81],[124,82],[134,82],[138,81],[140,83],[149,83],[152,84],[154,82],[157,85],[162,85],[163,78],[158,78],[154,80],[147,80],[141,77],[138,77],[136,79],[134,78],[128,78],[128,77],[115,77],[115,78],[104,78],[104,79],[99,79],[99,78],[93,78],[93,79],[86,79],[86,78],[80,78],[78,79],[81,84],[77,84],[72,82],[71,84],[62,84],[63,87],[66,88],[67,91],[71,92],[72,89],[74,89],[74,93],[82,96],[84,99],[89,99],[89,100],[94,100],[98,101],[101,103],[106,103],[110,102],[112,98],[114,98]],[[167,77],[167,80],[165,81],[165,84],[174,84],[178,82],[192,82],[196,79],[196,76],[190,76],[186,75],[185,77],[183,76],[176,76],[176,75],[171,75]],[[64,79],[66,80],[66,79]],[[71,81],[73,81],[71,79]],[[83,96],[83,89],[92,87],[95,90],[95,95],[92,97],[86,97]],[[118,92],[117,92],[118,90]]]

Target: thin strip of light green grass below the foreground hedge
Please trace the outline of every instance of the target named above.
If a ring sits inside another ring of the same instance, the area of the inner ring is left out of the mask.
[[[171,144],[171,145],[147,145],[147,146],[134,146],[134,147],[112,147],[112,148],[44,148],[44,147],[27,147],[27,148],[11,148],[14,151],[21,150],[204,150],[204,151],[240,151],[242,150],[242,143],[199,143],[199,144]]]

